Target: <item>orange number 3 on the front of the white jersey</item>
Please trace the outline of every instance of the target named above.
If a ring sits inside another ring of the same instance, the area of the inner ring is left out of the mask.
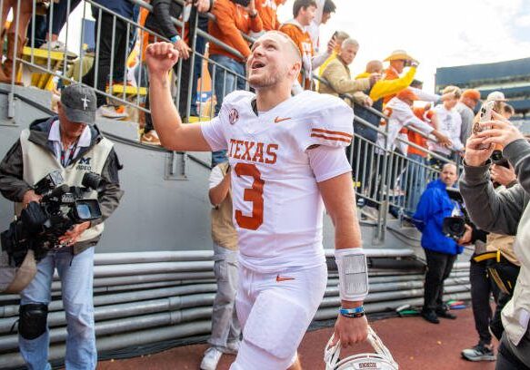
[[[263,186],[265,181],[261,179],[261,173],[252,163],[237,163],[235,174],[238,177],[250,176],[254,179],[252,188],[245,189],[243,200],[252,201],[252,216],[244,216],[243,212],[235,209],[235,221],[240,228],[255,230],[263,223]]]

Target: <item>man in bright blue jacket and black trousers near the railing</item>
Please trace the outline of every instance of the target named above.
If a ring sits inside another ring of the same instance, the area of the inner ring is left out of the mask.
[[[421,315],[430,323],[439,324],[438,317],[455,319],[444,306],[444,280],[451,273],[456,256],[463,247],[455,240],[445,236],[442,225],[446,217],[461,216],[462,210],[455,200],[447,194],[457,180],[456,167],[447,163],[438,180],[431,181],[421,196],[414,215],[417,229],[422,232],[422,247],[425,250],[427,271],[425,274],[424,307]]]

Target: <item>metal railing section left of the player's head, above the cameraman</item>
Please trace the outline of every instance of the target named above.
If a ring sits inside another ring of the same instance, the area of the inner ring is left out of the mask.
[[[4,0],[0,0],[2,5]],[[73,0],[67,0],[66,3],[66,15],[70,14],[72,10],[71,2]],[[153,10],[153,7],[141,0],[129,0],[133,5],[141,8],[145,8],[149,11]],[[177,3],[184,6],[184,2],[175,0]],[[16,6],[20,9],[21,5],[25,0],[18,0]],[[64,31],[62,40],[68,47],[68,40],[72,39],[71,34],[80,34],[81,40],[78,50],[75,53],[69,51],[56,51],[51,48],[50,43],[47,43],[47,49],[38,48],[35,44],[35,34],[37,32],[37,25],[43,21],[37,18],[36,15],[36,1],[32,0],[31,9],[31,25],[28,26],[29,43],[28,47],[24,47],[22,44],[18,44],[18,37],[15,37],[15,63],[17,65],[23,65],[25,71],[30,73],[41,73],[45,76],[45,81],[55,80],[57,85],[64,85],[67,83],[82,82],[91,87],[95,88],[95,92],[98,95],[98,105],[102,105],[102,101],[105,100],[106,104],[110,105],[123,105],[125,107],[131,107],[138,112],[149,113],[148,99],[146,99],[148,87],[148,76],[146,73],[145,66],[143,65],[144,60],[144,48],[143,41],[145,38],[149,39],[149,42],[166,41],[170,42],[161,34],[157,34],[154,31],[148,29],[143,24],[139,24],[135,19],[128,19],[123,15],[118,15],[114,11],[105,8],[103,5],[95,3],[93,0],[84,0],[79,6],[83,8],[83,21],[79,23],[73,23],[68,16],[65,18]],[[87,34],[85,27],[85,19],[87,18],[87,6],[90,5],[92,8],[92,15],[95,17],[95,47],[94,51],[91,52],[85,49],[83,41]],[[46,20],[47,25],[47,40],[52,40],[52,29],[54,25],[54,8],[56,5],[54,2],[50,2],[50,9],[48,12],[48,19]],[[20,10],[16,12],[16,17],[12,24],[15,29],[19,28]],[[175,27],[179,30],[181,37],[184,38],[185,24],[180,20],[172,17],[172,21]],[[217,101],[221,101],[226,93],[230,93],[233,89],[234,81],[241,81],[241,85],[244,85],[248,89],[248,84],[245,80],[245,73],[235,73],[230,68],[227,68],[223,63],[218,63],[210,57],[206,57],[204,52],[196,50],[197,39],[201,37],[210,44],[216,44],[223,48],[227,53],[235,55],[235,57],[243,58],[237,50],[230,47],[229,45],[215,39],[206,30],[202,30],[197,26],[198,14],[192,13],[191,18],[187,22],[189,27],[189,44],[191,46],[190,58],[185,61],[180,60],[175,65],[173,71],[173,80],[175,80],[174,88],[174,101],[175,106],[183,117],[190,117],[199,115],[201,112],[194,112],[195,109],[195,92],[199,99],[205,93],[205,82],[204,77],[201,76],[203,70],[203,64],[205,63],[211,74],[212,89],[211,91],[211,104],[214,105],[215,98],[217,95]],[[25,37],[23,38],[25,39]],[[120,39],[119,48],[117,47],[116,41]],[[124,49],[125,47],[125,49]],[[130,81],[127,81],[128,66],[127,58],[133,52],[134,48],[137,48],[135,52],[137,54],[136,69],[135,73],[135,84],[134,86],[127,86]],[[20,52],[22,50],[22,52]],[[125,57],[124,57],[125,55]],[[123,62],[122,62],[123,61]],[[183,65],[187,63],[186,68]],[[88,67],[92,65],[91,67]],[[27,74],[27,73],[25,73]],[[18,69],[14,68],[11,76],[11,94],[9,95],[8,102],[10,108],[8,109],[8,116],[13,117],[13,101],[14,101],[14,89],[15,84],[18,81]],[[197,80],[201,83],[195,89]],[[27,83],[27,79],[26,79]],[[32,82],[33,83],[33,82]],[[55,83],[48,84],[55,85]],[[45,87],[45,86],[40,86]],[[215,89],[220,90],[216,92]],[[204,102],[203,102],[204,103]],[[202,110],[205,112],[206,110]],[[207,116],[211,119],[215,115],[215,109],[210,109]]]

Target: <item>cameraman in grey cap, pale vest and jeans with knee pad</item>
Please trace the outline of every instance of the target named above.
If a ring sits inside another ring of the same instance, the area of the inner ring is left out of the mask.
[[[0,192],[15,201],[17,215],[41,196],[34,184],[53,171],[60,171],[65,184],[80,187],[85,172],[103,178],[97,190],[102,217],[75,224],[58,238],[37,264],[37,274],[20,296],[18,321],[20,352],[32,369],[50,368],[47,363],[48,304],[55,268],[61,279],[68,336],[65,367],[95,369],[95,323],[93,304],[94,247],[103,221],[123,195],[118,180],[121,165],[113,143],[95,127],[96,97],[81,84],[66,87],[58,104],[58,117],[33,122],[0,163]],[[95,195],[94,195],[95,197]]]

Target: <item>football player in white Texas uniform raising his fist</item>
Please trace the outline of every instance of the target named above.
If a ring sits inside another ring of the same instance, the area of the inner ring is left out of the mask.
[[[366,258],[344,150],[354,112],[332,95],[291,96],[302,63],[285,34],[264,34],[251,52],[246,69],[256,93],[230,93],[211,122],[183,125],[167,79],[178,52],[172,44],[150,44],[151,114],[169,150],[227,151],[240,248],[235,305],[243,327],[231,369],[299,369],[296,349],[327,283],[324,207],[335,225],[342,301],[335,341],[344,347],[367,336]]]

